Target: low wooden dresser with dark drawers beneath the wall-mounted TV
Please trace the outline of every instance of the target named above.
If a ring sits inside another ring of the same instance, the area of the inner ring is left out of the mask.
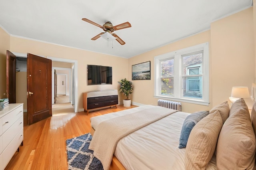
[[[111,107],[118,104],[117,90],[90,91],[83,93],[84,111],[88,112],[92,109],[100,109]]]

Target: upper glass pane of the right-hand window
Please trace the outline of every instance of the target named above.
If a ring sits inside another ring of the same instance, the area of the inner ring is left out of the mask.
[[[202,58],[203,52],[190,53],[182,55],[182,73],[183,75],[199,75],[202,74]]]

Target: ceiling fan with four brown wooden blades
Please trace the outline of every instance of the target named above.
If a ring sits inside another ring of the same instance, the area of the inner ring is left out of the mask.
[[[119,24],[119,25],[116,25],[116,26],[113,26],[112,23],[110,21],[106,22],[105,24],[103,24],[103,26],[101,26],[100,24],[97,24],[91,20],[88,20],[87,18],[82,18],[83,21],[85,22],[88,22],[90,24],[93,24],[94,26],[97,26],[97,27],[100,27],[102,28],[102,30],[104,30],[104,32],[98,34],[97,36],[93,37],[91,40],[97,40],[98,38],[100,38],[100,36],[102,34],[105,34],[105,33],[109,33],[110,36],[114,36],[113,39],[116,39],[117,42],[119,42],[121,45],[124,45],[125,42],[120,38],[118,37],[116,34],[112,33],[116,30],[121,30],[121,29],[124,29],[124,28],[129,28],[129,27],[132,27],[132,25],[129,23],[129,22],[124,22],[122,24]]]

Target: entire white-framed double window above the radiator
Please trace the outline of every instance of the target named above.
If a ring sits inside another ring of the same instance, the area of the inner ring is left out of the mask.
[[[208,43],[155,57],[157,98],[209,105]]]

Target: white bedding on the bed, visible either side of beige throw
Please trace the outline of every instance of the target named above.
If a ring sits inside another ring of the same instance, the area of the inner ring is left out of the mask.
[[[117,117],[154,107],[145,105],[91,118],[92,127],[107,117]],[[176,112],[155,123],[143,127],[119,140],[114,155],[127,170],[185,170],[186,148],[179,149],[180,131],[189,113]],[[103,117],[104,116],[104,117]],[[212,158],[207,170],[216,170],[216,159]]]

